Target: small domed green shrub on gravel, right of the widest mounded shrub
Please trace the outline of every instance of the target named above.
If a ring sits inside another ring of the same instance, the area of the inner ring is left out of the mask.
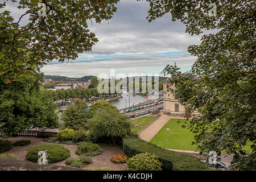
[[[82,143],[76,149],[76,153],[78,155],[84,154],[87,156],[94,156],[94,155],[101,154],[101,152],[102,150],[98,146],[98,144],[91,143],[91,142]]]

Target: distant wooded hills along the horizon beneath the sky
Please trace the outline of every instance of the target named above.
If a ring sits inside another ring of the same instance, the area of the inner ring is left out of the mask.
[[[59,76],[59,75],[45,75],[44,79],[51,79],[53,81],[88,81],[89,79],[92,79],[92,77],[95,76],[83,76],[81,78],[71,78],[71,77],[67,77],[67,76]],[[135,76],[135,77],[139,77],[139,76]],[[133,79],[135,79],[135,77]],[[140,79],[141,80],[141,79]],[[166,80],[166,77],[162,77],[159,76],[159,81],[163,81]],[[129,78],[127,77],[127,81],[129,81]],[[154,76],[152,76],[152,81],[154,81]]]

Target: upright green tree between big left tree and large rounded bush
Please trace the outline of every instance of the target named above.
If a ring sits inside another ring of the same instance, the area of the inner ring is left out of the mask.
[[[68,127],[73,130],[87,130],[87,120],[92,117],[92,114],[88,109],[86,109],[86,106],[86,102],[80,100],[76,100],[75,104],[69,104],[63,115],[61,115],[61,119],[63,121],[63,125],[61,127],[63,129]]]

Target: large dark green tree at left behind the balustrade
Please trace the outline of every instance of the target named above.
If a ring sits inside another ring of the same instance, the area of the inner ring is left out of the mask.
[[[39,80],[42,80],[39,73],[10,83],[0,79],[1,130],[15,134],[31,126],[59,127],[56,106],[51,99],[43,98]]]

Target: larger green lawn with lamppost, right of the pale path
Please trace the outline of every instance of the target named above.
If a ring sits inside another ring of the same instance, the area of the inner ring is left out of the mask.
[[[183,122],[177,123],[181,119],[170,119],[166,125],[150,141],[159,147],[167,148],[167,130],[169,130],[169,148],[180,150],[196,150],[192,145],[194,134],[188,129],[182,128]]]

